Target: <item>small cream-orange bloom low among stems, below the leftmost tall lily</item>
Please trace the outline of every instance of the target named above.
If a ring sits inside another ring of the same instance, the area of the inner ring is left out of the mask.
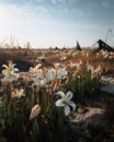
[[[11,96],[12,96],[12,98],[13,98],[13,97],[20,98],[20,97],[22,97],[22,96],[25,96],[24,90],[23,90],[23,88],[21,88],[21,90],[15,88],[15,90],[11,93]]]

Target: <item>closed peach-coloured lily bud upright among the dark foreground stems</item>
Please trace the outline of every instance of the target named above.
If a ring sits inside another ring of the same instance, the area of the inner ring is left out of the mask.
[[[39,113],[41,113],[41,106],[37,104],[32,108],[30,120],[33,120],[34,118],[36,118]]]

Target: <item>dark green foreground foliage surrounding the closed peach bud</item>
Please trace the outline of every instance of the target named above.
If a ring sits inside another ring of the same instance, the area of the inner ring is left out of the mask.
[[[2,129],[9,142],[64,142],[68,121],[64,109],[55,106],[54,96],[45,88],[38,92],[27,87],[26,96],[12,98],[10,91],[3,97]],[[41,105],[39,115],[30,121],[31,109],[35,104]]]

